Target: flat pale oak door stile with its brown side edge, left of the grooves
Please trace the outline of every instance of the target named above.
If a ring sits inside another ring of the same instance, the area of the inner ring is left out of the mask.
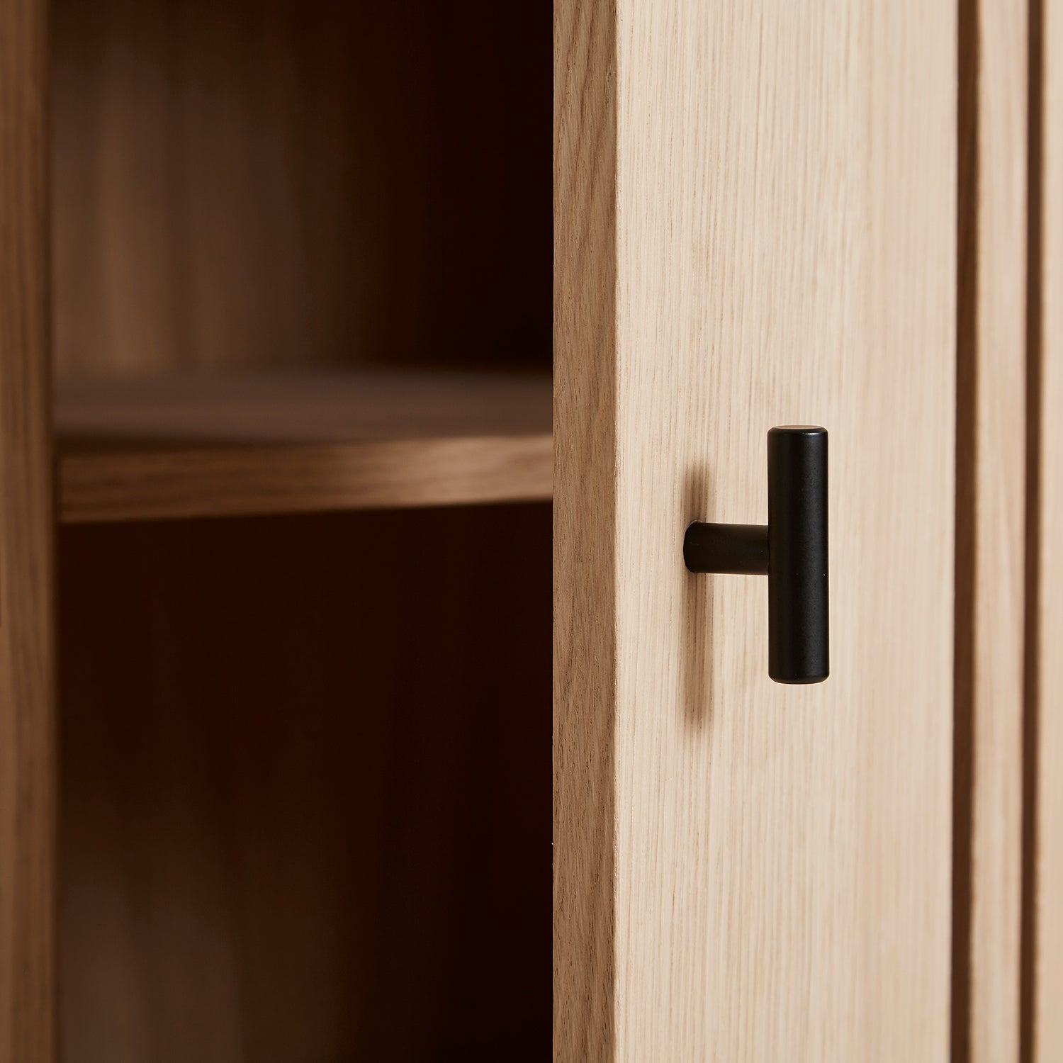
[[[555,0],[554,1054],[948,1057],[957,5]],[[830,434],[767,676],[765,435]]]

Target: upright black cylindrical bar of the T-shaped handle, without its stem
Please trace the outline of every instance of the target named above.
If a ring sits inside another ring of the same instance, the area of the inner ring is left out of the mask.
[[[822,682],[830,673],[827,432],[767,433],[767,674]]]

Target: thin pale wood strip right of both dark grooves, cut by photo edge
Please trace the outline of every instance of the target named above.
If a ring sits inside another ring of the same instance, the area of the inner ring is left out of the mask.
[[[1063,1058],[1063,10],[1042,6],[1033,1059]]]

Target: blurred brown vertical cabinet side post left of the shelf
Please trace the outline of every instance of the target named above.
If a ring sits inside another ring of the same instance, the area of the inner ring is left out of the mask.
[[[0,1059],[53,1051],[46,4],[0,6]]]

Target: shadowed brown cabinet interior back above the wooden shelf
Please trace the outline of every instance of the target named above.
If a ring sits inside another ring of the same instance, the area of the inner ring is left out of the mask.
[[[57,0],[61,373],[549,366],[530,0]]]

